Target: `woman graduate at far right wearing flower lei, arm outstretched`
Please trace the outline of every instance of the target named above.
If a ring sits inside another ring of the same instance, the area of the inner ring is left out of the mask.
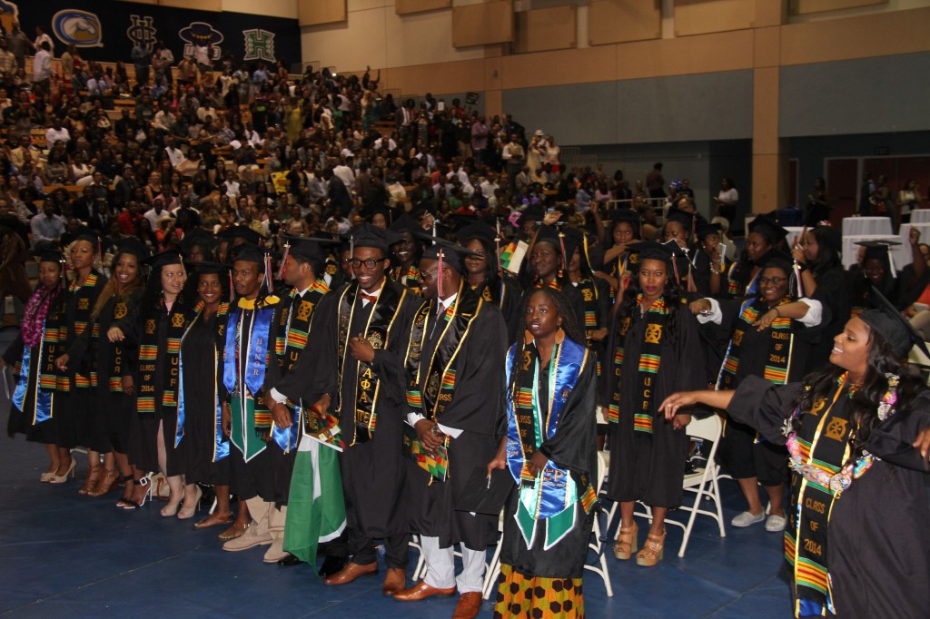
[[[666,415],[703,403],[786,444],[791,497],[785,572],[795,617],[930,613],[930,394],[902,365],[923,338],[890,303],[850,319],[830,364],[804,382],[751,376],[736,391],[676,393]],[[917,447],[923,451],[919,451]]]

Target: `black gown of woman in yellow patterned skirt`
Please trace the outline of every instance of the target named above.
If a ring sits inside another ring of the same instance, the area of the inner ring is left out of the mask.
[[[596,486],[595,377],[595,366],[589,362],[578,376],[578,382],[565,401],[555,435],[551,439],[542,441],[539,448],[545,454],[549,454],[551,461],[559,467],[566,468],[576,482],[584,476]],[[538,386],[540,403],[549,402],[548,386],[549,368],[548,366],[540,367]],[[579,493],[584,491],[585,488],[578,488]],[[527,548],[523,534],[520,533],[516,520],[513,518],[517,511],[518,500],[519,493],[514,486],[507,499],[504,535],[500,542],[502,545],[500,561],[511,565],[514,570],[525,576],[580,578],[584,573],[585,560],[588,558],[588,542],[594,524],[594,511],[591,510],[590,514],[586,514],[579,500],[575,504],[577,514],[575,527],[557,545],[549,550],[543,550],[546,536],[540,528],[533,547]]]

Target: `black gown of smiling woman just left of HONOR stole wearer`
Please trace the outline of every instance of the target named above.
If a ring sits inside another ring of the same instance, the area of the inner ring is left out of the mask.
[[[184,475],[187,483],[226,485],[230,482],[229,456],[213,461],[216,445],[215,389],[222,389],[223,339],[217,321],[226,316],[198,316],[180,344],[184,389]],[[225,331],[224,331],[225,332]],[[228,437],[223,437],[229,443]]]

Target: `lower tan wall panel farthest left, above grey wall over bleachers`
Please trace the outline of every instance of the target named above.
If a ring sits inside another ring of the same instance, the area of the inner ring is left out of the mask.
[[[506,56],[501,59],[501,66],[504,88],[617,79],[617,55],[610,46]]]

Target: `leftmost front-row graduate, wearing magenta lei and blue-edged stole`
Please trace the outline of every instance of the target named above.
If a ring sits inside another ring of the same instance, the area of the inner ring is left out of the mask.
[[[5,366],[13,368],[16,386],[11,394],[7,434],[25,434],[27,441],[46,445],[48,470],[39,481],[65,481],[73,472],[71,451],[59,447],[55,417],[52,416],[52,390],[42,389],[42,366],[54,368],[54,344],[44,340],[46,323],[57,324],[58,296],[64,290],[64,256],[58,249],[37,252],[39,283],[23,310],[20,335],[4,352]],[[54,378],[52,379],[54,386]]]

